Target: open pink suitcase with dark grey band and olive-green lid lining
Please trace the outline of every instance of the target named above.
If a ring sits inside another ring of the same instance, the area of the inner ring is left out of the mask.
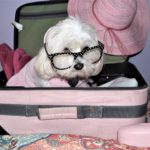
[[[15,20],[23,24],[23,30],[14,29],[14,48],[36,55],[46,30],[67,17],[66,7],[67,0],[19,7]],[[1,73],[0,126],[9,134],[46,132],[117,139],[121,127],[146,122],[148,85],[142,75],[124,56],[105,57],[102,72],[92,77],[98,85],[128,77],[135,78],[138,87],[5,87]]]

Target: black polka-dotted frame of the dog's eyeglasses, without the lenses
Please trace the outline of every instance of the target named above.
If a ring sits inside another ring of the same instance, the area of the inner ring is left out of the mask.
[[[53,66],[55,69],[57,69],[57,70],[66,70],[66,69],[71,68],[71,66],[69,66],[69,67],[67,67],[67,68],[62,68],[62,69],[56,67],[55,64],[54,64],[54,61],[53,61],[53,58],[54,58],[55,56],[67,54],[67,55],[72,55],[72,56],[74,57],[74,60],[76,60],[76,58],[77,58],[78,56],[83,57],[83,55],[84,55],[87,51],[90,51],[90,50],[95,49],[95,48],[99,48],[99,49],[100,49],[100,58],[99,58],[97,61],[95,61],[93,64],[99,62],[99,61],[101,60],[101,58],[102,58],[102,55],[103,55],[104,44],[101,43],[100,41],[98,41],[98,45],[92,46],[92,47],[88,47],[88,48],[86,48],[86,49],[83,49],[81,52],[76,52],[76,53],[64,52],[64,53],[53,53],[53,54],[49,54],[49,53],[48,53],[47,47],[46,47],[46,43],[44,43],[45,52],[46,52],[46,54],[47,54],[49,60],[51,61],[52,66]]]

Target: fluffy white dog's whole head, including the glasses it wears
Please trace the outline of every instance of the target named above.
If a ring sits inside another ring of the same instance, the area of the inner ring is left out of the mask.
[[[79,19],[65,19],[50,28],[45,34],[44,43],[36,68],[45,78],[88,78],[102,69],[102,53],[95,47],[98,46],[96,32]]]

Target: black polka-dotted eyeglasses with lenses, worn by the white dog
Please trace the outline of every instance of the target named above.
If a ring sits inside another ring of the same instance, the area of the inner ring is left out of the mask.
[[[82,57],[92,64],[99,62],[102,58],[104,44],[98,41],[98,45],[93,47],[85,47],[78,53],[64,52],[49,54],[46,43],[44,43],[44,48],[53,67],[58,70],[65,70],[69,69],[73,65],[77,57]]]

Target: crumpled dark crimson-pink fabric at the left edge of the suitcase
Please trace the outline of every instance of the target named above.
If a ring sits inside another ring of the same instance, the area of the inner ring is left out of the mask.
[[[18,48],[14,51],[5,43],[0,45],[0,62],[7,79],[19,72],[30,59],[31,56],[24,49]]]

